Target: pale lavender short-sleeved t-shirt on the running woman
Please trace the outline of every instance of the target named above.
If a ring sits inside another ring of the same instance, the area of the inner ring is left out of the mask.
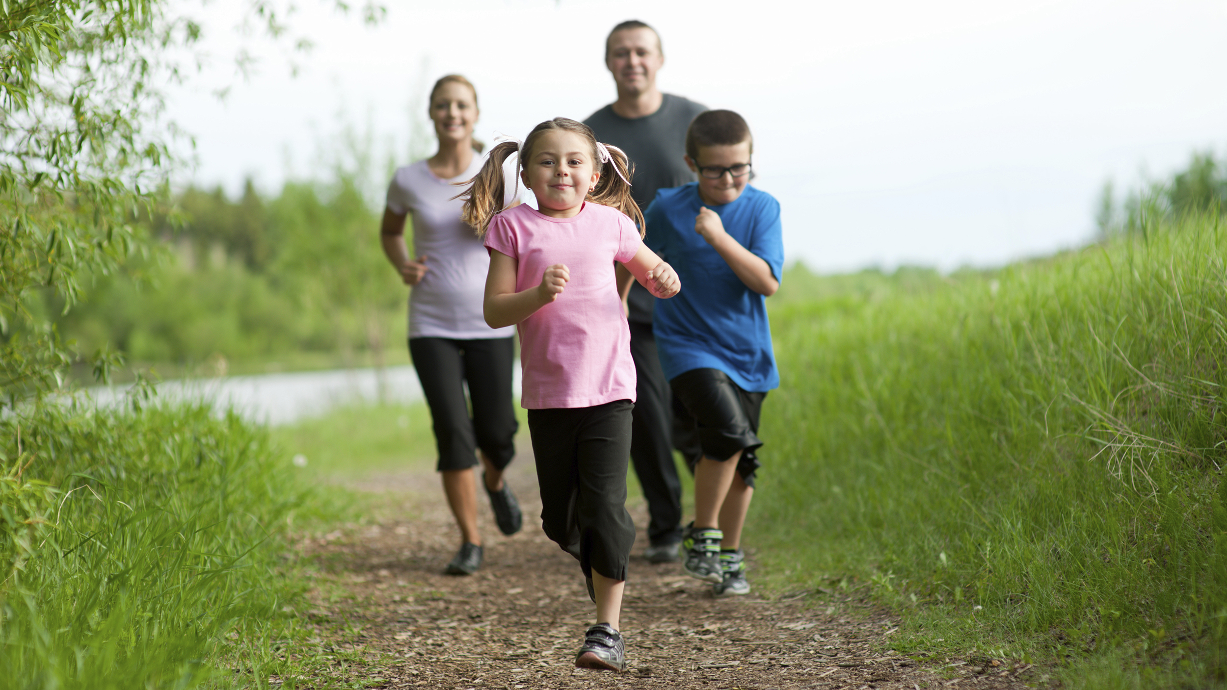
[[[491,328],[482,315],[490,254],[472,228],[460,221],[464,202],[453,196],[464,191],[485,159],[472,163],[450,180],[439,179],[426,161],[398,168],[388,185],[388,208],[412,213],[413,259],[426,255],[426,276],[409,293],[411,338],[509,338],[515,326]],[[510,181],[510,180],[509,180]],[[521,188],[523,189],[523,188]],[[507,190],[510,194],[510,189]]]

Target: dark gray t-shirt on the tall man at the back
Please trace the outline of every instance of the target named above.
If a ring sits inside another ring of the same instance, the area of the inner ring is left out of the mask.
[[[660,108],[644,118],[627,119],[606,105],[593,113],[584,124],[593,127],[596,140],[612,143],[626,152],[634,163],[631,194],[639,208],[647,211],[656,190],[694,181],[682,156],[686,154],[686,129],[694,115],[707,110],[681,96],[664,94]],[[638,282],[631,286],[631,321],[652,324],[652,293]]]

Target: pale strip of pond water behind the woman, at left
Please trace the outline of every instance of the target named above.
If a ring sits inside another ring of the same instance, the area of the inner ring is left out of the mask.
[[[124,400],[130,386],[98,386],[85,395],[98,404]],[[519,392],[520,369],[515,366],[513,391]],[[218,411],[232,407],[264,424],[291,424],[348,404],[411,403],[422,400],[422,386],[412,366],[333,369],[255,376],[182,379],[157,385],[158,397],[168,401],[206,400]]]

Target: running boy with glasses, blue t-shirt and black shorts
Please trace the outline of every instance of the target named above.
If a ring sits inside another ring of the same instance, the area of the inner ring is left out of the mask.
[[[644,241],[692,286],[656,300],[660,365],[699,440],[694,522],[682,542],[687,574],[717,596],[750,592],[741,527],[755,490],[758,413],[779,386],[767,297],[779,289],[779,202],[750,186],[753,140],[731,110],[708,110],[686,132],[697,183],[663,189],[644,217]],[[694,288],[693,286],[699,286]]]

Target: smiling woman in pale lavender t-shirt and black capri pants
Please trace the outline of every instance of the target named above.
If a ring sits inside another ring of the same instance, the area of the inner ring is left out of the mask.
[[[490,256],[474,229],[460,221],[463,202],[452,199],[460,191],[454,183],[467,181],[481,169],[482,146],[472,138],[477,113],[477,91],[469,80],[448,75],[434,83],[429,116],[439,151],[396,170],[380,228],[384,254],[411,286],[409,353],[434,422],[443,490],[460,527],[460,550],[448,564],[449,575],[469,575],[482,561],[472,469],[477,458],[498,528],[514,534],[521,523],[515,496],[503,482],[503,469],[515,455],[515,328],[486,325],[482,297]],[[417,259],[405,246],[410,213]]]

